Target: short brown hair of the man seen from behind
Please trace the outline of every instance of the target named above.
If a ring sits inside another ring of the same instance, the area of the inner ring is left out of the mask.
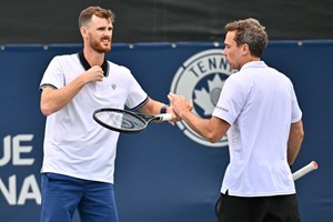
[[[265,27],[261,26],[256,19],[233,21],[228,23],[224,29],[226,32],[235,31],[236,44],[249,44],[252,56],[260,57],[268,46],[269,38]]]

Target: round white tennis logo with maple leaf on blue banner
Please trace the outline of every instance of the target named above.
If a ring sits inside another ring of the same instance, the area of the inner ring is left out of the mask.
[[[193,100],[193,112],[204,119],[211,118],[218,104],[221,90],[232,70],[221,49],[201,51],[190,57],[176,71],[171,92]],[[228,145],[226,137],[211,143],[195,133],[184,122],[176,122],[183,133],[193,141],[206,147]]]

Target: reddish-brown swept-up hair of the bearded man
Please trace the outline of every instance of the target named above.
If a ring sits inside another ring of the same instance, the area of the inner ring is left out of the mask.
[[[103,9],[101,7],[89,7],[81,11],[79,17],[79,27],[87,26],[93,14],[99,18],[110,19],[112,23],[114,22],[115,14],[111,10]]]

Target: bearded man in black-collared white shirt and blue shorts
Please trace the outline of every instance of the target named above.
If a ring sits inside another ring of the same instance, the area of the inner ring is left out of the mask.
[[[89,7],[79,17],[83,51],[58,56],[40,83],[41,112],[47,117],[41,222],[118,222],[113,173],[118,132],[98,125],[94,110],[112,107],[149,114],[172,108],[152,100],[131,71],[105,59],[111,50],[114,13]]]

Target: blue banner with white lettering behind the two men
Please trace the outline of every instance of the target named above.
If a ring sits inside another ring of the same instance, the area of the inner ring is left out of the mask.
[[[233,72],[219,42],[113,44],[108,59],[131,69],[153,99],[175,92],[193,98],[194,112],[210,117],[223,81]],[[0,50],[0,218],[39,221],[40,168],[46,118],[39,83],[50,60],[81,44],[4,46]],[[333,41],[272,41],[263,60],[294,83],[305,139],[295,164],[320,168],[296,181],[303,222],[333,221]],[[122,222],[215,222],[214,204],[229,162],[228,140],[212,144],[185,124],[150,124],[121,134],[115,199]],[[79,221],[75,215],[74,221]]]

